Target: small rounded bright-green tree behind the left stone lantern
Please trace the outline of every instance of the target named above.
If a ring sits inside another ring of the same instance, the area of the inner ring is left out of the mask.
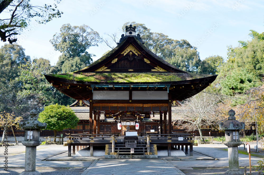
[[[79,122],[78,117],[69,106],[58,104],[46,106],[39,114],[38,120],[47,123],[46,129],[53,130],[54,137],[56,137],[57,131],[75,128]],[[56,142],[55,138],[54,142]]]

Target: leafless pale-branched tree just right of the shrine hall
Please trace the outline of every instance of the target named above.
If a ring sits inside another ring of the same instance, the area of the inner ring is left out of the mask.
[[[218,96],[203,92],[187,99],[178,111],[178,115],[182,117],[182,120],[178,120],[178,125],[188,131],[198,129],[200,136],[203,136],[202,128],[218,123],[215,113],[218,101]]]

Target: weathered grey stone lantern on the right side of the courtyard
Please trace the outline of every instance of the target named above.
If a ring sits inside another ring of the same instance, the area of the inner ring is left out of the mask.
[[[239,141],[239,129],[245,128],[244,122],[235,120],[235,111],[228,111],[228,120],[219,123],[219,129],[225,130],[224,145],[228,146],[229,170],[225,174],[243,174],[238,167],[238,146],[242,144]]]

